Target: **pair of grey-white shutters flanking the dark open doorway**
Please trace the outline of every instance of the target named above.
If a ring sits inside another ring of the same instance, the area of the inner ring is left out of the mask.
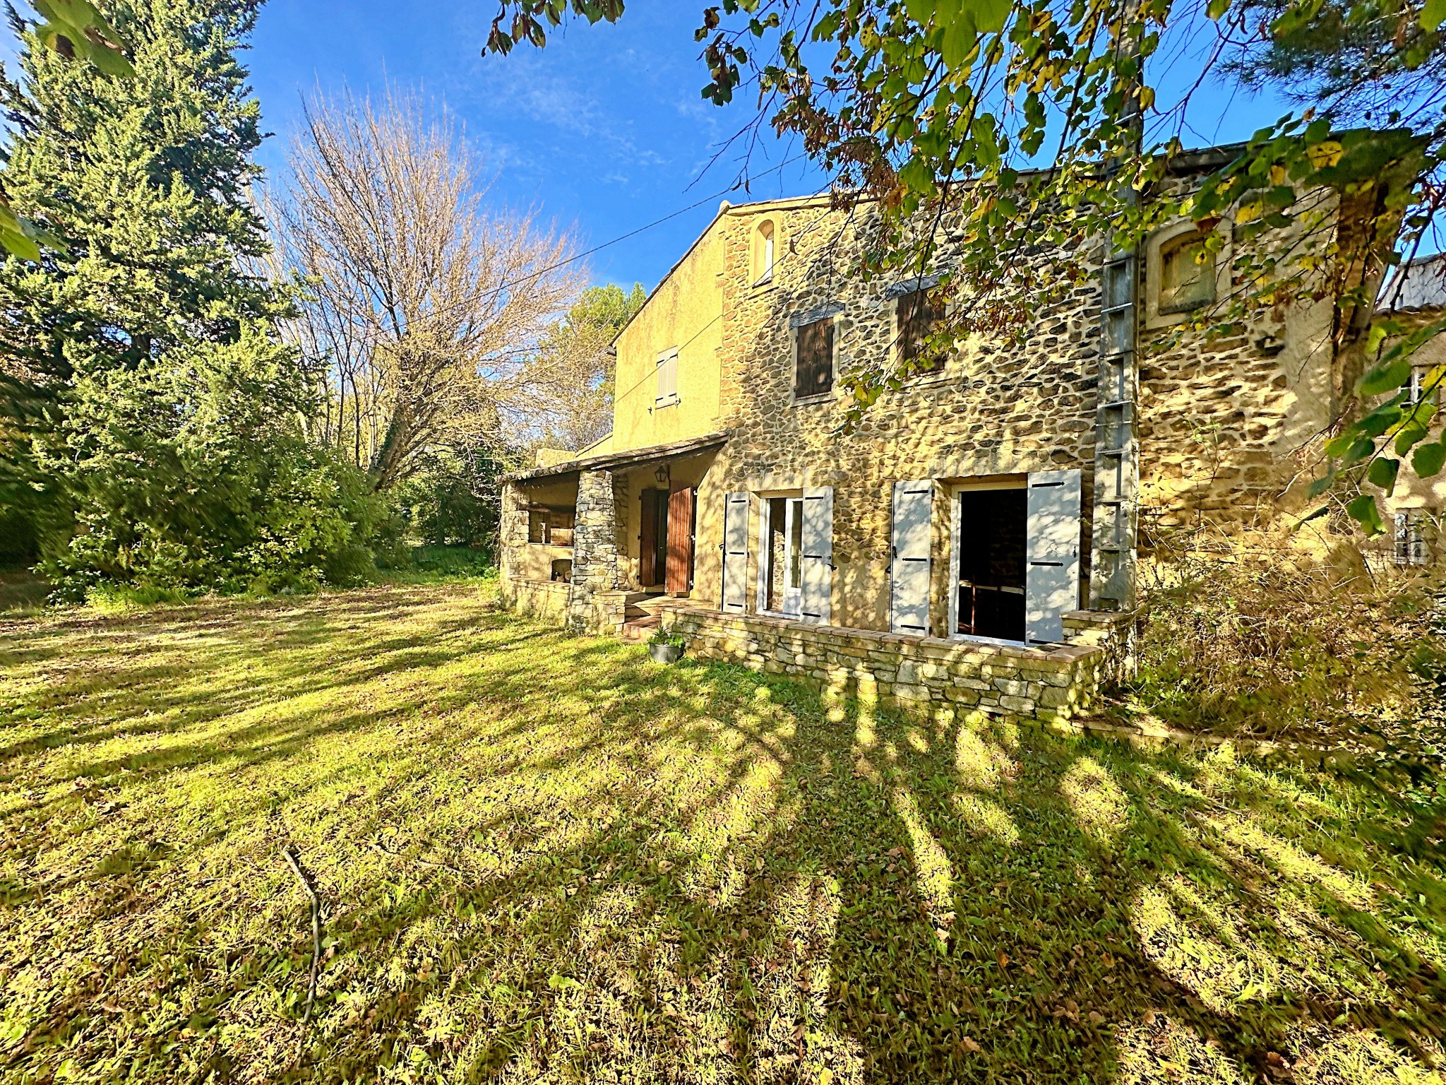
[[[1054,644],[1064,639],[1064,615],[1079,609],[1080,472],[1034,472],[1027,486],[1024,635]],[[930,479],[894,483],[889,626],[898,634],[928,634],[933,505]]]

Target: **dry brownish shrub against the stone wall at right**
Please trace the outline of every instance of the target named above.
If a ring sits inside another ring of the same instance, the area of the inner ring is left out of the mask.
[[[1421,584],[1348,540],[1177,532],[1142,564],[1129,693],[1189,729],[1267,736],[1378,731],[1414,710],[1432,641]]]

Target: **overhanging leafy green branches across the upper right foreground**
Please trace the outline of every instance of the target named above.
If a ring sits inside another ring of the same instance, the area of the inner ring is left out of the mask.
[[[542,45],[570,13],[597,22],[622,9],[503,0],[487,48]],[[1391,336],[1375,317],[1378,284],[1442,207],[1443,20],[1446,0],[723,0],[696,36],[706,98],[756,91],[759,123],[801,139],[837,204],[878,208],[862,273],[938,276],[950,317],[931,347],[1019,334],[1089,273],[1100,237],[1131,246],[1187,217],[1218,255],[1215,227],[1229,217],[1246,242],[1231,258],[1236,286],[1189,330],[1236,334],[1329,299],[1336,437],[1355,448],[1366,435],[1359,379]],[[1183,65],[1193,78],[1181,81]],[[1151,75],[1167,68],[1184,90],[1160,101]],[[1192,100],[1216,77],[1275,85],[1300,107],[1180,188]],[[1021,250],[1044,259],[1011,259]],[[1403,340],[1392,376],[1410,379],[1400,362],[1426,339]],[[852,376],[855,415],[910,365]],[[1374,508],[1351,503],[1366,529],[1378,529]]]

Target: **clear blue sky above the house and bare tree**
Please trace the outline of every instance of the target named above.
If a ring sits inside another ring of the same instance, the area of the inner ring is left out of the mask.
[[[388,81],[419,87],[445,103],[490,159],[499,201],[576,221],[589,246],[701,200],[590,258],[597,282],[654,286],[713,217],[714,194],[737,179],[736,152],[707,166],[752,117],[750,101],[719,109],[698,94],[706,72],[693,29],[701,0],[629,0],[615,26],[578,23],[555,32],[545,49],[482,56],[495,7],[427,4],[424,16],[422,6],[398,0],[270,0],[247,56],[266,127],[276,133],[263,165],[282,168],[304,94],[318,87],[377,94]],[[1194,69],[1180,64],[1178,71]],[[1157,72],[1167,85],[1171,75]],[[1226,101],[1206,87],[1186,142],[1241,139],[1283,111],[1278,103]],[[765,133],[750,163],[761,174],[752,198],[818,190],[823,179],[807,162],[778,168],[797,153]]]

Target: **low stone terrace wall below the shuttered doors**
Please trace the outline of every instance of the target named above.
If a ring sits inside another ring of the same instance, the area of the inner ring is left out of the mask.
[[[687,606],[665,610],[662,626],[683,635],[694,658],[787,674],[891,707],[980,710],[1044,723],[1089,710],[1111,665],[1099,644],[946,641]]]

